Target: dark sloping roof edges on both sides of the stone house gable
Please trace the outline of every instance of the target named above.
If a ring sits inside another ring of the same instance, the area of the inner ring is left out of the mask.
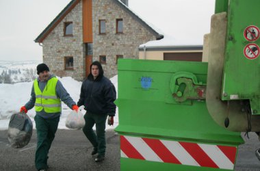
[[[75,8],[75,6],[77,5],[77,3],[79,3],[81,0],[72,0],[70,1],[70,3],[68,3],[68,5],[66,5],[66,7],[60,12],[60,14],[58,14],[53,21],[51,21],[51,23],[42,31],[42,33],[40,33],[40,35],[36,38],[36,40],[34,40],[34,42],[42,42],[44,40],[44,38],[46,38],[51,31],[62,21],[62,19],[66,16],[66,14],[68,14],[71,10],[73,10],[73,8]],[[157,40],[160,40],[161,38],[164,38],[164,35],[159,34],[158,31],[156,31],[153,27],[151,27],[150,25],[148,25],[146,22],[144,22],[142,20],[142,18],[140,18],[137,14],[135,14],[132,10],[130,10],[127,5],[125,5],[124,3],[122,3],[120,0],[112,0],[114,1],[116,4],[118,4],[123,10],[125,10],[125,12],[127,12],[128,14],[130,14],[133,18],[135,18],[136,21],[138,21],[141,25],[143,25],[144,27],[146,27],[146,29],[148,29],[149,31],[151,31],[151,33],[153,35],[155,35]]]

